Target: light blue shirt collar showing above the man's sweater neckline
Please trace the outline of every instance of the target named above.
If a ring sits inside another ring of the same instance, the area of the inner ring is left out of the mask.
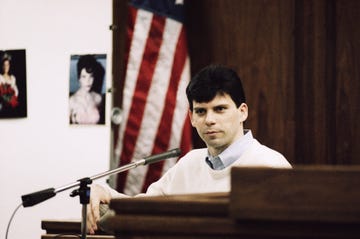
[[[208,156],[205,159],[206,163],[214,170],[221,170],[230,166],[243,155],[253,139],[251,130],[245,129],[244,136],[237,139],[221,154],[213,157],[208,152]]]

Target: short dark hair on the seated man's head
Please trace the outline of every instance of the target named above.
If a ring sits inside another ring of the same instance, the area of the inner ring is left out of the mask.
[[[240,77],[234,70],[221,65],[209,65],[203,68],[191,79],[186,88],[191,111],[193,110],[193,101],[209,102],[217,94],[225,93],[230,95],[237,107],[241,103],[245,103]]]

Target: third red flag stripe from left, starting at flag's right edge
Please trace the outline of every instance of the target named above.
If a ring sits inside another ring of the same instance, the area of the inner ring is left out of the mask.
[[[166,92],[165,106],[161,115],[161,121],[157,129],[152,154],[158,154],[169,149],[171,137],[171,124],[173,122],[174,109],[176,106],[176,95],[178,91],[179,81],[184,69],[187,57],[186,39],[184,28],[181,27],[176,50],[174,54],[173,67],[169,80],[169,86]],[[185,92],[184,92],[185,93]],[[158,180],[162,174],[164,162],[149,165],[142,191],[146,191],[148,186]]]

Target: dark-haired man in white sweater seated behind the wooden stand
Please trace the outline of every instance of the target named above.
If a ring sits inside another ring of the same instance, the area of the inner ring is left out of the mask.
[[[235,71],[217,65],[205,67],[190,81],[186,95],[191,124],[207,148],[188,152],[151,184],[145,195],[228,192],[233,166],[291,168],[282,154],[260,144],[250,130],[244,130],[248,107]],[[109,203],[116,196],[125,195],[99,185],[92,187],[90,233],[97,229],[99,203]]]

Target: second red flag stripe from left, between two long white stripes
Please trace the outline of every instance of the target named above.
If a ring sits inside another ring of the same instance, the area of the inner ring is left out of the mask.
[[[129,111],[129,118],[125,127],[123,147],[120,156],[120,165],[130,163],[134,155],[136,141],[143,120],[147,95],[151,86],[152,76],[154,74],[156,62],[159,56],[164,26],[165,19],[154,15],[151,21],[151,27],[139,69],[132,104]],[[121,192],[124,191],[126,177],[127,172],[118,175],[117,188]]]

